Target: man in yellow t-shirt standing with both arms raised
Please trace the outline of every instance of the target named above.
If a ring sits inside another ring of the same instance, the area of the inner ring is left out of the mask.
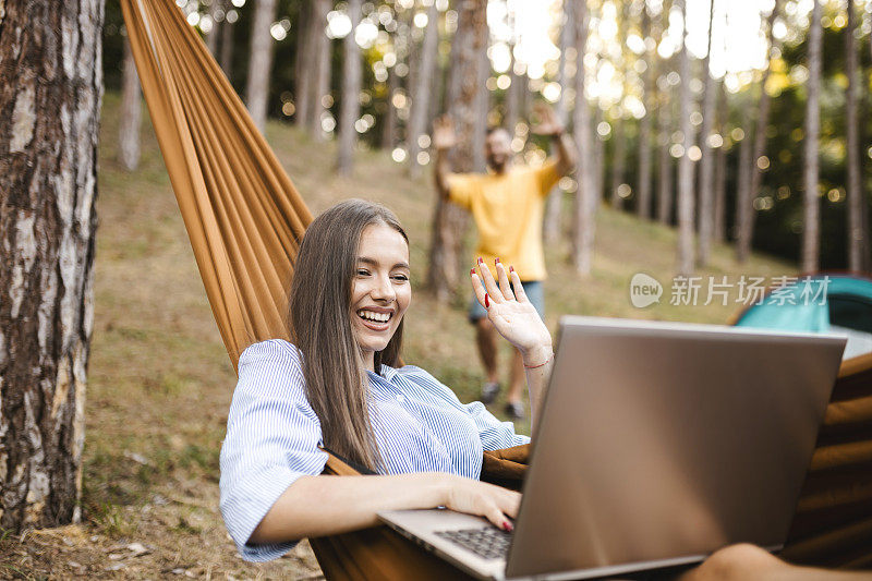
[[[496,277],[495,261],[513,267],[524,291],[544,318],[545,256],[542,251],[542,217],[545,198],[560,177],[574,166],[574,150],[564,136],[564,125],[554,111],[540,104],[535,108],[540,123],[531,131],[550,136],[557,146],[556,158],[541,167],[512,165],[511,135],[502,128],[488,131],[485,140],[487,173],[451,173],[448,149],[456,142],[451,120],[446,116],[434,123],[433,145],[436,149],[436,187],[443,199],[469,210],[479,230],[475,256],[483,258]],[[487,313],[475,298],[470,302],[470,323],[475,325],[479,354],[485,370],[481,400],[492,403],[499,392],[497,370],[497,332]],[[513,419],[524,416],[521,401],[523,361],[514,352],[510,367],[510,384],[506,412]]]

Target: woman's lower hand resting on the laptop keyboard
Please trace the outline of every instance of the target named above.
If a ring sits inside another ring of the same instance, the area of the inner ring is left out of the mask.
[[[477,480],[446,474],[448,486],[446,508],[489,520],[498,529],[511,531],[511,521],[518,516],[521,494]]]

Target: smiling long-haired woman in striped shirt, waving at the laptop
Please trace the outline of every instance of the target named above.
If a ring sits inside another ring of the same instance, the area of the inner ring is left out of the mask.
[[[475,294],[523,355],[535,409],[550,335],[511,268],[497,262],[497,282],[476,266]],[[529,438],[424,370],[397,368],[409,270],[409,240],[383,206],[343,202],[310,225],[291,287],[292,342],[242,353],[221,448],[221,512],[243,558],[372,526],[390,509],[446,506],[511,530],[520,495],[479,481],[482,450]],[[383,475],[319,475],[319,446]]]

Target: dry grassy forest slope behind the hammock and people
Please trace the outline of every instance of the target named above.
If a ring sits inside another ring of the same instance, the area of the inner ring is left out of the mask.
[[[235,556],[227,536],[218,512],[218,451],[235,375],[147,122],[140,169],[129,173],[114,160],[118,104],[118,95],[106,95],[83,522],[24,538],[3,532],[0,577],[317,574],[305,543],[282,559],[255,566]],[[267,138],[313,213],[352,196],[383,202],[397,213],[411,239],[413,270],[405,360],[431,371],[462,401],[475,399],[482,373],[465,319],[468,290],[446,306],[422,288],[435,196],[429,177],[411,180],[384,152],[362,150],[354,174],[343,179],[334,172],[334,144],[314,143],[280,123],[267,126]],[[569,208],[570,197],[564,202]],[[738,307],[668,304],[676,244],[670,228],[603,207],[596,241],[588,278],[579,277],[568,263],[568,242],[547,250],[547,324],[554,330],[566,313],[723,323]],[[741,274],[794,270],[792,265],[761,256],[740,267],[730,249],[717,246],[711,266],[699,274],[726,275],[735,281]],[[638,271],[667,288],[661,304],[645,310],[630,304],[629,280]],[[501,351],[506,362],[508,346]],[[502,403],[493,407],[498,415]],[[529,424],[521,422],[518,429],[529,433]],[[145,545],[147,553],[135,555],[129,549],[132,543]]]

